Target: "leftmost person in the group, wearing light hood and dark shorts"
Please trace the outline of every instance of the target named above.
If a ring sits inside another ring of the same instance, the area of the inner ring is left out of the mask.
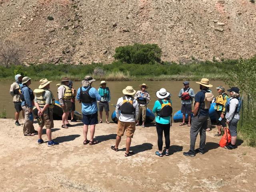
[[[24,118],[24,111],[21,108],[21,100],[20,100],[20,86],[22,86],[22,76],[20,74],[17,74],[15,76],[15,82],[11,85],[10,88],[10,94],[13,97],[12,102],[14,103],[14,108],[16,110],[15,112],[15,125],[20,126],[19,123],[19,117],[20,117],[20,111],[22,111],[22,116]]]

